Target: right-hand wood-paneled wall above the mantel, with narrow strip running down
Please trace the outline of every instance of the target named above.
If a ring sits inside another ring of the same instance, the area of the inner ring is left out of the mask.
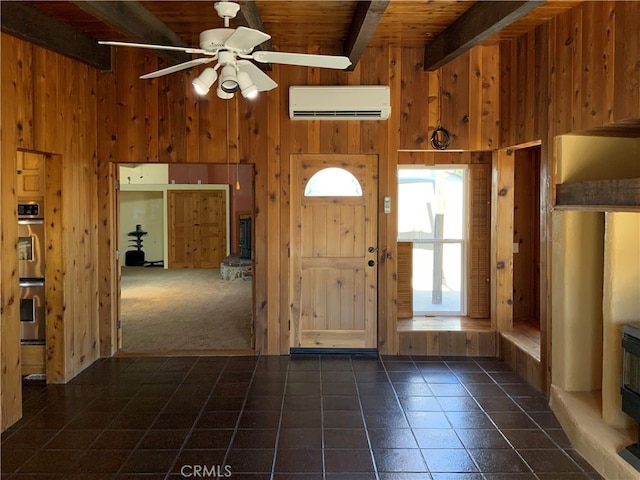
[[[640,119],[640,2],[583,2],[500,47],[500,146],[542,141],[541,361],[551,379],[554,138]]]

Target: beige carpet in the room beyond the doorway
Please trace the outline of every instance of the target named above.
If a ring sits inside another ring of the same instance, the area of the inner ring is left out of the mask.
[[[252,286],[219,269],[122,267],[122,350],[241,350],[251,346]]]

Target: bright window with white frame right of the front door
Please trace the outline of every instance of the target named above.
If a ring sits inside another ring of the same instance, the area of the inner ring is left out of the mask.
[[[466,314],[466,167],[399,167],[398,241],[413,243],[413,312]]]

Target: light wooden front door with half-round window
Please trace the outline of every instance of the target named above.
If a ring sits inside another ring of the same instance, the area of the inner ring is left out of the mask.
[[[293,348],[376,348],[377,162],[291,156]]]

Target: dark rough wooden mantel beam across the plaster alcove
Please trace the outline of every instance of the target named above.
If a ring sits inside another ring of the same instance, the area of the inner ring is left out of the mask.
[[[556,208],[640,211],[640,178],[559,183],[556,185]]]

